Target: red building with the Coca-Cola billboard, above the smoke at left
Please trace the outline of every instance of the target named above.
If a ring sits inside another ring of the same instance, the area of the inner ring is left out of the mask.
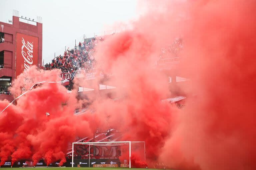
[[[32,22],[16,16],[12,24],[0,22],[0,91],[31,65],[42,64],[42,23],[26,21]]]

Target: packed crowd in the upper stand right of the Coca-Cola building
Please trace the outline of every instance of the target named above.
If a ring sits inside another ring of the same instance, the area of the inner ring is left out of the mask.
[[[83,43],[79,42],[73,49],[67,49],[64,55],[59,55],[52,59],[52,62],[41,66],[41,69],[61,69],[62,72],[73,72],[81,69],[94,68],[96,61],[93,57],[95,46],[98,41],[103,41],[103,38],[87,39]]]

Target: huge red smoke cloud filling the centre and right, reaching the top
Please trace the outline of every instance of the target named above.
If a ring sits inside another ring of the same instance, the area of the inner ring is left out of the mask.
[[[103,42],[96,58],[115,73],[110,83],[121,87],[117,94],[128,97],[118,106],[103,101],[98,110],[122,115],[124,138],[145,140],[149,161],[160,156],[171,168],[255,169],[255,5],[168,3]],[[159,104],[168,90],[152,69],[161,45],[177,35],[185,43],[175,71],[191,80],[182,90],[197,95],[182,113]]]

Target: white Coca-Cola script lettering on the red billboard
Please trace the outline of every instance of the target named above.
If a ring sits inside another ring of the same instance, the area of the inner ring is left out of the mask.
[[[22,37],[22,47],[21,47],[21,54],[23,56],[24,59],[24,71],[26,71],[27,69],[29,69],[29,67],[33,64],[33,42],[29,42],[27,41],[27,44],[25,42],[25,40]],[[27,49],[27,51],[24,51],[24,47]]]

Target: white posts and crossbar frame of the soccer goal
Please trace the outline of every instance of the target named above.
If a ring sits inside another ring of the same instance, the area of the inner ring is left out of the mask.
[[[74,144],[97,144],[97,143],[129,143],[129,168],[131,168],[131,143],[144,142],[144,157],[146,161],[146,145],[145,141],[111,141],[111,142],[73,142],[72,143],[72,167],[74,167]],[[90,145],[89,145],[90,147]],[[90,149],[89,149],[90,154]],[[90,162],[90,156],[89,156]]]

